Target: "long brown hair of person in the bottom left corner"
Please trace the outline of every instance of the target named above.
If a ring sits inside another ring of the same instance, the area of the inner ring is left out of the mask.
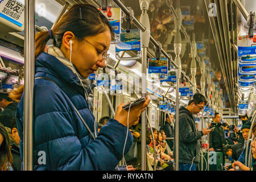
[[[11,155],[9,135],[1,123],[0,134],[3,136],[3,142],[0,146],[0,171],[9,171],[10,165],[13,163],[13,156]]]

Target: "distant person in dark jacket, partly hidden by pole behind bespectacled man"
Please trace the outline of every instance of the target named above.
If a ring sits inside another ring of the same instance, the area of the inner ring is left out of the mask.
[[[174,115],[170,114],[171,119],[168,117],[168,114],[166,114],[166,122],[164,124],[163,130],[166,134],[167,138],[174,138]],[[173,139],[167,139],[166,140],[168,146],[170,147],[171,151],[174,150],[174,140]]]

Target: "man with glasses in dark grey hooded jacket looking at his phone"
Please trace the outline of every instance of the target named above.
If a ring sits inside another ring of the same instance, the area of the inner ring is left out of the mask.
[[[196,165],[200,161],[200,138],[212,130],[202,129],[196,131],[195,118],[207,104],[205,97],[196,93],[188,102],[187,107],[179,109],[179,171],[196,171]],[[176,122],[175,122],[176,127]],[[174,146],[174,156],[175,156]]]

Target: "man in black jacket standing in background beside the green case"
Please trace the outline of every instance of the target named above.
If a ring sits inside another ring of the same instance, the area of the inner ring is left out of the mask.
[[[225,152],[223,147],[227,142],[224,137],[224,129],[221,126],[221,116],[219,113],[214,114],[213,123],[210,126],[210,129],[213,127],[214,129],[210,133],[209,151],[222,152],[222,165],[225,166]]]

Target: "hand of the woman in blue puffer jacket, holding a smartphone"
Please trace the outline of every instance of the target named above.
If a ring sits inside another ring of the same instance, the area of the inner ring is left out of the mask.
[[[150,97],[147,96],[145,102],[130,108],[129,127],[132,126],[134,122],[139,120],[139,116],[144,110],[146,110],[146,107],[148,106],[149,103],[150,103]],[[117,112],[115,113],[114,119],[127,127],[127,118],[128,118],[129,109],[123,109],[122,106],[124,105],[125,104],[121,103],[117,107]]]

